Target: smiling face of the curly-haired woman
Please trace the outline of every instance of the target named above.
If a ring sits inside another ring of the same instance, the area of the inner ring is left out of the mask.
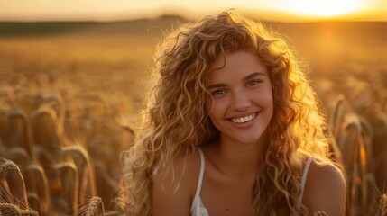
[[[241,50],[220,56],[207,91],[206,109],[221,140],[253,144],[263,137],[272,119],[272,82],[258,57]]]

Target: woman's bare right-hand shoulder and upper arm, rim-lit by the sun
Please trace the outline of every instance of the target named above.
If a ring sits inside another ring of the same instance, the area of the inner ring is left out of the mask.
[[[346,214],[346,179],[330,162],[312,161],[302,201],[309,213],[325,211],[330,216]]]

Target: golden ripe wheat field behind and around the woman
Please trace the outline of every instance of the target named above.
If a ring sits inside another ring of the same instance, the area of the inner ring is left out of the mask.
[[[180,17],[0,23],[0,215],[120,215],[152,54]],[[267,23],[309,63],[347,215],[387,215],[386,23]],[[383,194],[384,193],[384,194]]]

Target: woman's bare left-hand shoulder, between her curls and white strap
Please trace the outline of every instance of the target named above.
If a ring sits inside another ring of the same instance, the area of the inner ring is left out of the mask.
[[[171,166],[153,175],[152,215],[189,215],[196,192],[200,159],[198,151],[181,153]]]

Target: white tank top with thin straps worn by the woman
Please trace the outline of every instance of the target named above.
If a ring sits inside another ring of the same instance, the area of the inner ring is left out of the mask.
[[[195,197],[191,204],[191,216],[209,216],[206,207],[203,205],[200,199],[200,190],[201,184],[203,183],[204,169],[205,169],[205,159],[202,150],[198,149],[200,155],[200,173],[198,175],[198,186],[196,189]],[[299,200],[297,202],[297,208],[301,207],[302,195],[304,194],[304,187],[307,180],[307,175],[309,171],[310,163],[313,158],[309,157],[307,163],[305,164],[304,171],[301,178],[301,194],[299,194]]]

